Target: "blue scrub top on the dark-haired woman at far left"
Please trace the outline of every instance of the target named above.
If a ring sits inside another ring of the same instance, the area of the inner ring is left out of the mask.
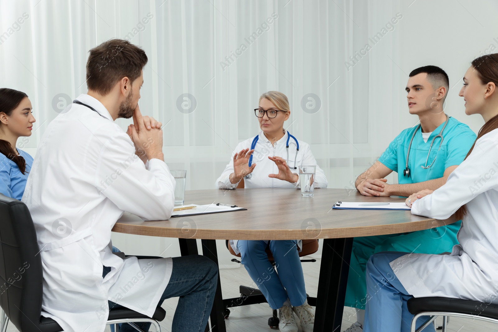
[[[21,173],[16,163],[0,153],[0,193],[20,201],[33,165],[33,157],[21,149],[17,149],[17,152],[26,160],[25,174]]]

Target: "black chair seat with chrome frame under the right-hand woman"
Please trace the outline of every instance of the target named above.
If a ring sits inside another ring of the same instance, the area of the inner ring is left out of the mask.
[[[407,302],[408,311],[415,315],[411,321],[411,332],[420,332],[431,324],[438,316],[443,316],[442,332],[448,328],[448,317],[471,318],[486,322],[498,323],[498,305],[480,301],[424,297],[411,298]],[[430,316],[416,330],[416,322],[420,316]]]

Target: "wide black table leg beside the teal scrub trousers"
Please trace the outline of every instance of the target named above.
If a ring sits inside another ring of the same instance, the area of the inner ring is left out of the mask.
[[[341,331],[352,246],[352,237],[323,240],[314,332]]]

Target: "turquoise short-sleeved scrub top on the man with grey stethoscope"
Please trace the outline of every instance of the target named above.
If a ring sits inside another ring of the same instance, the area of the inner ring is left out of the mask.
[[[404,129],[389,144],[384,153],[378,158],[378,161],[398,173],[398,183],[400,184],[418,183],[442,178],[445,169],[450,166],[460,165],[477,137],[467,124],[458,121],[454,117],[450,117],[442,134],[443,143],[439,151],[440,137],[437,137],[432,145],[427,166],[435,158],[434,164],[428,169],[423,169],[421,166],[425,166],[431,141],[439,134],[443,126],[444,122],[432,132],[427,142],[424,142],[422,138],[421,127],[417,129],[417,126],[415,126]],[[410,176],[408,177],[403,175],[403,170],[406,167],[406,153],[408,152],[408,145],[410,144],[414,130],[417,130],[417,133],[413,137],[408,157],[408,167],[410,169]]]

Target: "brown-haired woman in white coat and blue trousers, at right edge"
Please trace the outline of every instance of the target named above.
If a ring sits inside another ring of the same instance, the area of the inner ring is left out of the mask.
[[[367,263],[365,332],[410,331],[411,297],[447,297],[498,304],[498,54],[472,61],[460,96],[465,113],[486,122],[446,184],[411,195],[413,215],[462,219],[451,254],[383,252]],[[428,317],[420,318],[420,326]],[[433,329],[433,328],[432,328]],[[434,331],[427,327],[424,331]]]

